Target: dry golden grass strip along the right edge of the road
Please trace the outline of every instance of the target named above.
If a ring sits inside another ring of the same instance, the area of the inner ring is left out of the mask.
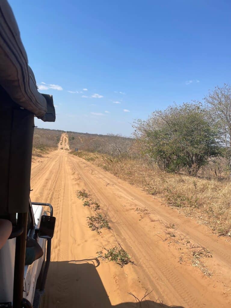
[[[111,157],[105,154],[73,152],[87,161],[164,198],[185,215],[208,225],[215,233],[231,236],[231,182],[161,171],[145,159]]]

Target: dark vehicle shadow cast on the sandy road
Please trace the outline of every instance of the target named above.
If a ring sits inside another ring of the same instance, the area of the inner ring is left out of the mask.
[[[96,270],[98,259],[51,262],[43,299],[44,308],[168,308],[150,300],[142,301],[142,306],[133,302],[111,305],[107,292]],[[111,284],[114,280],[112,278]],[[171,306],[184,308],[181,306]]]

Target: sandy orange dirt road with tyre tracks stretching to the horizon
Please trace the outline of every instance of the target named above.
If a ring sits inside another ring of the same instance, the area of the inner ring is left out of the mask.
[[[119,180],[68,148],[32,164],[32,201],[50,202],[56,216],[44,307],[231,306],[231,245],[205,226],[169,209],[161,200]],[[64,146],[64,144],[65,146]],[[86,189],[104,210],[112,230],[98,235],[87,225],[94,214],[77,190]],[[121,268],[97,259],[119,241],[134,264]],[[208,277],[209,276],[209,277]],[[136,306],[145,290],[152,291]],[[149,306],[148,306],[149,305]]]

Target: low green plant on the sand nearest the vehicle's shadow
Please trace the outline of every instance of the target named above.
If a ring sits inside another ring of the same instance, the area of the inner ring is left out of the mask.
[[[103,259],[107,259],[108,261],[114,261],[116,263],[118,263],[121,266],[124,266],[126,264],[128,264],[129,262],[131,262],[131,257],[129,256],[129,254],[127,253],[127,251],[125,251],[120,245],[119,246],[115,246],[113,248],[107,249],[104,248],[106,250],[107,253],[104,253],[103,255],[103,251],[98,251],[98,257],[101,257]]]

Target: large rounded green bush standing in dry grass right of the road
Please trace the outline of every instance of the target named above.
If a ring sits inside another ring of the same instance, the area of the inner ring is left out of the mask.
[[[134,127],[143,154],[169,172],[185,167],[189,174],[196,175],[209,157],[220,154],[218,132],[200,104],[184,103],[155,111]]]

